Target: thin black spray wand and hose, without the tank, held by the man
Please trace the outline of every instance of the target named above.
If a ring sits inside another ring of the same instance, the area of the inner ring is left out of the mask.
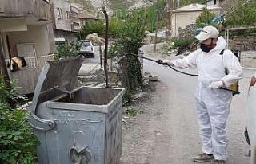
[[[148,58],[148,57],[142,57],[142,56],[136,55],[136,54],[134,54],[134,53],[125,53],[124,56],[126,57],[127,55],[131,55],[131,56],[134,56],[134,57],[140,57],[140,58],[146,59],[146,60],[148,60],[148,61],[154,61],[154,62],[156,62],[157,64],[167,65],[169,68],[173,69],[175,72],[179,72],[179,73],[182,73],[182,74],[184,74],[184,75],[188,75],[188,76],[198,76],[197,74],[191,74],[191,73],[179,71],[178,69],[173,68],[172,66],[170,66],[170,64],[167,64],[167,63],[162,62],[162,60],[158,60],[158,61],[157,61],[157,60],[154,60],[154,59],[150,59],[150,58]],[[228,88],[222,88],[222,87],[221,87],[221,88],[219,88],[219,89],[226,90],[226,91],[230,91],[230,92],[234,92],[234,91],[232,91],[232,90],[230,90],[230,89],[228,89]]]

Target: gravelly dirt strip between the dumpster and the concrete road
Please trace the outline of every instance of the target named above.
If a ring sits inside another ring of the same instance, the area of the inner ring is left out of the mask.
[[[143,89],[142,95],[135,98],[130,107],[137,108],[139,115],[123,115],[123,143],[122,158],[120,164],[150,163],[146,162],[150,158],[154,139],[162,135],[158,129],[158,122],[163,118],[163,110],[154,108],[154,95],[156,90],[162,88],[161,82],[150,82]],[[164,89],[164,88],[163,88]],[[149,124],[154,122],[155,127]]]

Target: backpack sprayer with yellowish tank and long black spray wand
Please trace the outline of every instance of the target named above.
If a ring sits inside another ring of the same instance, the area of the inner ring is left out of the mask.
[[[158,61],[157,61],[157,60],[154,60],[154,59],[150,59],[150,58],[148,58],[148,57],[138,56],[138,55],[136,55],[136,54],[134,54],[134,53],[125,53],[125,56],[124,56],[124,57],[126,57],[127,55],[131,55],[131,56],[134,56],[134,57],[140,57],[140,58],[146,59],[146,60],[148,60],[148,61],[154,61],[154,62],[157,63],[157,64],[167,65],[169,68],[173,69],[175,72],[179,72],[179,73],[182,73],[182,74],[184,74],[184,75],[188,75],[188,76],[198,76],[197,74],[191,74],[191,73],[187,73],[187,72],[182,72],[182,71],[180,71],[180,70],[178,70],[178,69],[176,69],[176,68],[170,66],[170,65],[167,64],[167,63],[163,63],[162,60],[158,60]],[[235,84],[233,84],[230,89],[229,89],[229,88],[222,88],[222,87],[219,88],[219,89],[226,90],[226,91],[230,91],[230,92],[233,93],[233,96],[240,93],[240,92],[238,91],[238,82],[235,83]]]

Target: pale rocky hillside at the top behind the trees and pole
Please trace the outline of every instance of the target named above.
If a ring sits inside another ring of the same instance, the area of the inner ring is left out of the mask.
[[[114,10],[135,9],[143,6],[150,6],[155,0],[108,0],[106,1],[106,10],[112,14]],[[79,3],[85,10],[91,14],[101,13],[105,0],[70,0],[70,2]]]

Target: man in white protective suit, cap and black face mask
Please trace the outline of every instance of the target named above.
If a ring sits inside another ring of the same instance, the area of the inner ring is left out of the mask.
[[[226,120],[230,113],[232,92],[220,88],[229,88],[243,75],[234,53],[227,49],[223,53],[226,41],[218,34],[218,29],[206,26],[195,36],[201,41],[200,49],[183,59],[162,61],[174,68],[198,68],[196,103],[202,154],[194,157],[194,162],[225,163],[228,143]]]

